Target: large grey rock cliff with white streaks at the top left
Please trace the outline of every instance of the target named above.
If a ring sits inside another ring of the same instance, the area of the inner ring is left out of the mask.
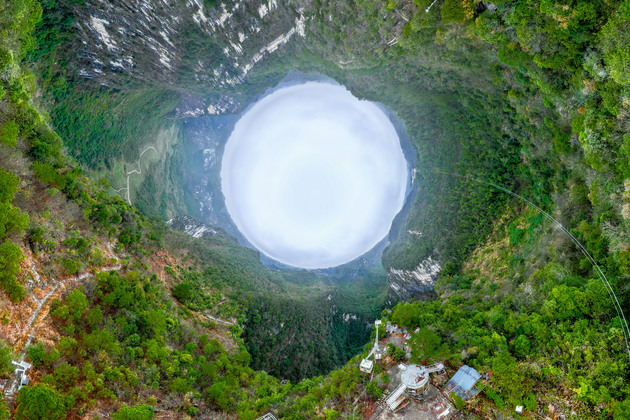
[[[267,54],[305,37],[307,1],[86,0],[73,8],[74,73],[176,87],[235,85]],[[210,110],[212,111],[212,110]]]

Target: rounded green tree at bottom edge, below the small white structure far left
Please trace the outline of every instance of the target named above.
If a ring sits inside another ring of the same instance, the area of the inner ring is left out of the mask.
[[[48,385],[25,386],[17,398],[17,420],[56,420],[63,419],[66,407],[63,398]]]

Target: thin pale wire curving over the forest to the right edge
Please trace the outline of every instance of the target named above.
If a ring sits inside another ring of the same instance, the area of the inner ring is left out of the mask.
[[[516,197],[516,198],[524,201],[529,206],[531,206],[532,208],[536,209],[543,216],[545,216],[545,218],[547,218],[549,221],[551,221],[556,227],[560,228],[565,234],[567,234],[567,236],[569,238],[571,238],[573,243],[575,243],[578,246],[578,248],[586,256],[586,258],[588,258],[588,260],[591,262],[591,264],[593,265],[593,268],[595,269],[595,272],[599,276],[599,279],[604,284],[604,287],[606,288],[606,291],[608,292],[608,296],[610,296],[610,300],[612,301],[613,306],[615,307],[615,310],[617,311],[617,316],[619,317],[619,320],[621,321],[621,331],[623,332],[624,341],[625,341],[625,344],[626,344],[626,350],[628,352],[628,359],[630,360],[630,344],[628,344],[630,342],[630,329],[628,328],[628,321],[626,320],[626,316],[623,313],[623,309],[621,308],[621,305],[619,304],[619,300],[617,299],[617,295],[615,294],[615,291],[613,290],[612,286],[610,285],[610,282],[608,281],[608,279],[604,275],[604,272],[601,270],[601,268],[599,267],[599,265],[597,264],[595,259],[586,250],[584,245],[582,245],[582,243],[580,241],[578,241],[575,236],[573,236],[573,234],[571,232],[569,232],[560,222],[558,222],[549,213],[547,213],[546,211],[544,211],[543,209],[538,207],[536,204],[532,203],[531,201],[529,201],[525,197],[523,197],[521,195],[518,195],[515,192],[512,192],[512,191],[508,190],[507,188],[504,188],[504,187],[502,187],[500,185],[493,184],[492,182],[483,181],[481,179],[471,178],[471,177],[468,177],[468,176],[465,176],[465,175],[452,174],[452,173],[449,173],[449,172],[442,172],[442,171],[436,171],[436,170],[425,170],[425,171],[426,172],[433,172],[433,173],[437,173],[437,174],[442,174],[442,175],[451,175],[451,176],[455,176],[455,177],[459,177],[459,178],[464,178],[464,179],[468,179],[470,181],[474,181],[474,182],[477,182],[477,183],[480,183],[480,184],[489,185],[491,187],[499,189],[499,190],[501,190],[501,191],[503,191],[505,193],[510,194],[513,197]]]

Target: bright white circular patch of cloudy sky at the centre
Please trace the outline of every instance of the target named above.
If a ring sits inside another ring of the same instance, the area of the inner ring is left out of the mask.
[[[308,269],[373,248],[402,208],[407,162],[391,121],[343,86],[278,89],[236,123],[221,187],[232,220],[265,255]]]

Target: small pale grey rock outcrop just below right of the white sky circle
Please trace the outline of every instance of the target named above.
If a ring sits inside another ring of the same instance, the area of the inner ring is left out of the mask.
[[[440,263],[431,257],[420,263],[414,270],[390,268],[387,272],[389,303],[434,298],[436,296],[434,286],[440,269]]]

